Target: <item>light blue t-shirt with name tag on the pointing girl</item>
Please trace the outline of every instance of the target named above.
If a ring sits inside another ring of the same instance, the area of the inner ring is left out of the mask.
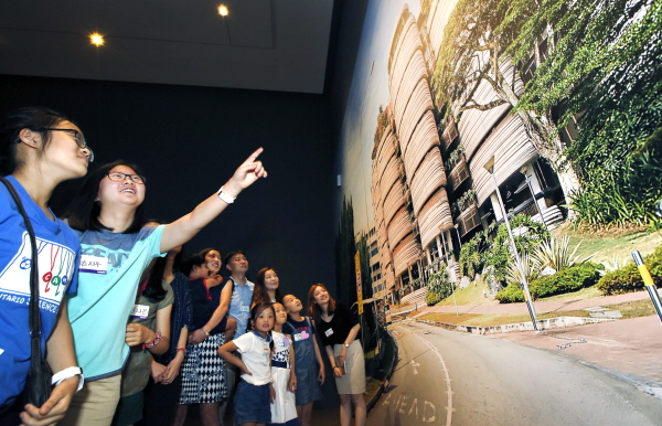
[[[78,365],[86,381],[121,371],[129,354],[126,326],[145,268],[160,253],[164,226],[135,234],[76,233],[81,238],[78,290],[67,298]]]

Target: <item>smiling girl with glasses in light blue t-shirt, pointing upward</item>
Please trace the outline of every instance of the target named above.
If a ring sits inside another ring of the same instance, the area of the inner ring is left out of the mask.
[[[130,345],[171,344],[163,333],[127,329],[140,275],[152,258],[191,239],[242,190],[267,175],[256,160],[260,152],[261,148],[250,155],[217,194],[169,225],[141,226],[146,179],[136,166],[116,161],[85,180],[65,216],[82,246],[79,285],[67,308],[86,384],[62,425],[110,424],[129,353],[125,334]]]

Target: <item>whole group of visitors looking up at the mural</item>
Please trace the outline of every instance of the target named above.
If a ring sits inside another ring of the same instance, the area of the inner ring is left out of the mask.
[[[260,152],[172,223],[145,221],[147,180],[121,160],[89,173],[61,220],[47,206],[54,189],[87,174],[94,160],[82,130],[42,107],[6,117],[0,175],[18,192],[38,249],[9,187],[0,185],[0,426],[181,426],[189,404],[215,426],[231,401],[237,426],[308,426],[325,379],[316,336],[335,377],[341,425],[351,424],[352,406],[356,425],[365,423],[359,321],[323,285],[310,288],[303,312],[297,297],[282,297],[274,268],[249,281],[241,251],[222,259],[206,248],[180,262],[184,243],[267,175]],[[21,398],[33,268],[41,351],[54,373],[40,407]]]

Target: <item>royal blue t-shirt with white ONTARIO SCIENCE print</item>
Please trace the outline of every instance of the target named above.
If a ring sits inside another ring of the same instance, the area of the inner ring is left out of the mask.
[[[60,302],[75,291],[78,237],[62,221],[52,221],[13,178],[36,236],[42,353],[57,321]],[[51,212],[53,214],[53,212]],[[54,216],[54,215],[53,215]],[[0,406],[23,391],[30,371],[30,263],[32,248],[23,217],[0,183]]]

